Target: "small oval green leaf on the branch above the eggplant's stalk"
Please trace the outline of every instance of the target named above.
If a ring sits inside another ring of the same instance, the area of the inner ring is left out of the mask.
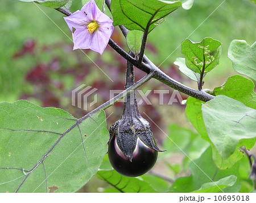
[[[139,30],[130,30],[126,36],[126,44],[134,55],[138,55],[141,51],[143,32]]]

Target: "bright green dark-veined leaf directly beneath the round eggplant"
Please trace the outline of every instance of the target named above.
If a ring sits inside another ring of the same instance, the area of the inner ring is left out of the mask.
[[[156,192],[146,181],[139,177],[126,177],[115,170],[99,170],[96,176],[112,185],[119,192]]]

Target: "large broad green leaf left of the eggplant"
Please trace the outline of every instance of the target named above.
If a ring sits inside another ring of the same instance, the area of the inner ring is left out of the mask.
[[[64,110],[21,100],[0,103],[0,117],[0,192],[76,192],[108,150],[104,111],[77,127]]]

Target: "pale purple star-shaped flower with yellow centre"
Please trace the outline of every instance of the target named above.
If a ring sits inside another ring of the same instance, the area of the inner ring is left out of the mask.
[[[100,54],[103,53],[114,26],[109,16],[102,13],[93,0],[86,3],[81,11],[78,10],[64,19],[72,32],[73,50],[92,49]]]

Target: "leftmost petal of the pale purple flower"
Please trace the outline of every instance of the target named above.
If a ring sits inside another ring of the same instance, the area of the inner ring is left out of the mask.
[[[72,28],[85,28],[85,24],[88,24],[90,21],[87,16],[79,10],[68,17],[64,17],[64,20],[68,24],[71,32]]]

